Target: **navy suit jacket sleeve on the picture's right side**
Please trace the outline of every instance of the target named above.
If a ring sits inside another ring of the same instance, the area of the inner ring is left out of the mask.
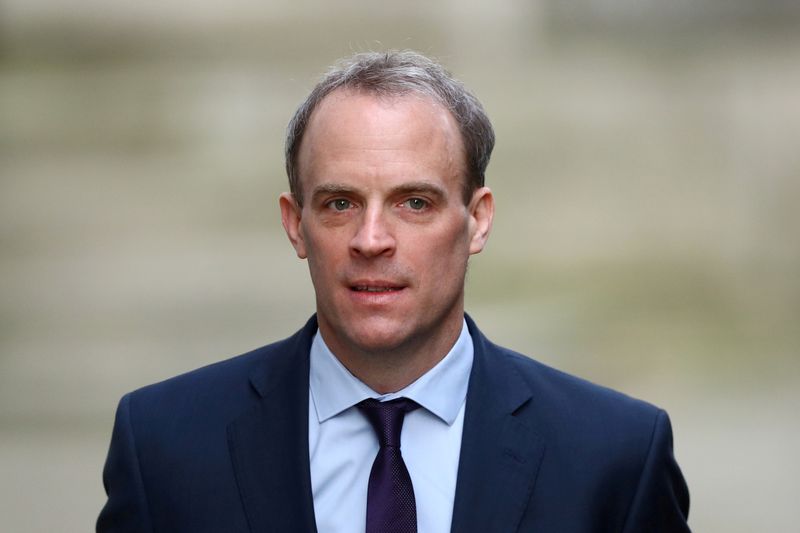
[[[672,427],[660,411],[624,533],[688,533],[689,489],[672,453]]]

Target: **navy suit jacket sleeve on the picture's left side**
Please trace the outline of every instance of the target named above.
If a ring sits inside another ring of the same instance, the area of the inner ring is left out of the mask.
[[[106,501],[97,519],[97,533],[152,532],[131,424],[131,396],[123,396],[117,407],[111,446],[103,468]]]

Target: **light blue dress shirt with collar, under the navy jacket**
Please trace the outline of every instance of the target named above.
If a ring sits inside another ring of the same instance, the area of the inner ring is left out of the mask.
[[[353,376],[317,332],[311,346],[308,443],[320,533],[365,530],[367,484],[378,440],[355,405],[366,398],[401,396],[423,407],[406,415],[400,440],[414,485],[418,531],[450,531],[472,358],[464,322],[453,348],[435,367],[400,391],[379,394]]]

